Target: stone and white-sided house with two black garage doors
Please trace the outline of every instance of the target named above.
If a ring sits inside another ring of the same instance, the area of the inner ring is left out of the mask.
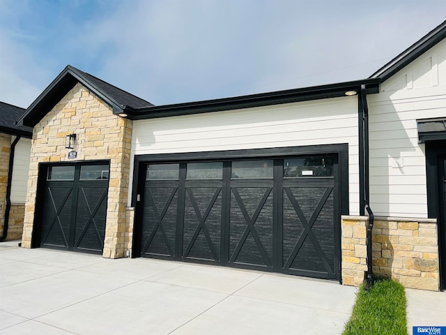
[[[67,66],[19,119],[22,246],[446,288],[445,36],[368,79],[175,105]]]

